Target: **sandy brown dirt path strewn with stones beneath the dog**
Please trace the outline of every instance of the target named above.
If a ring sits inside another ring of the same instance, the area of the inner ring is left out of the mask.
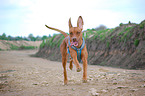
[[[67,67],[64,86],[61,62],[29,56],[35,52],[0,51],[0,96],[145,96],[145,70],[89,65],[82,83],[82,72]]]

